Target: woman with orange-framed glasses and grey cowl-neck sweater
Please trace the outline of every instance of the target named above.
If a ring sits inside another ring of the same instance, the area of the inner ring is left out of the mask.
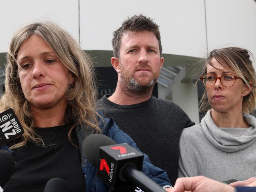
[[[256,174],[255,71],[248,50],[215,49],[200,79],[206,87],[199,125],[180,138],[179,177],[203,175],[232,183]]]

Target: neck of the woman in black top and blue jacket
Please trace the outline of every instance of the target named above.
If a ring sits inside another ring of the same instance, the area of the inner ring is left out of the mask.
[[[32,107],[32,113],[35,120],[34,127],[56,127],[65,124],[64,116],[67,103],[61,107],[52,107],[49,109],[37,109]]]

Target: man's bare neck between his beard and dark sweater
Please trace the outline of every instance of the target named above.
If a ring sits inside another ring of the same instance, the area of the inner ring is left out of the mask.
[[[152,90],[145,94],[136,94],[132,91],[121,90],[117,87],[113,95],[108,97],[108,100],[118,105],[133,105],[149,100],[151,95]]]

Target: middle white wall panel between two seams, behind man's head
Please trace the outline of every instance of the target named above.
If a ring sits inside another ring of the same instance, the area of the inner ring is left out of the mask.
[[[200,57],[206,52],[204,0],[87,0],[80,7],[85,10],[80,19],[85,50],[112,50],[113,31],[141,13],[160,26],[163,53]]]

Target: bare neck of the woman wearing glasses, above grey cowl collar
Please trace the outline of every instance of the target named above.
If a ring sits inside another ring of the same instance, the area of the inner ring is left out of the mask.
[[[220,113],[211,109],[211,117],[217,127],[248,128],[249,124],[243,119],[241,111]]]

